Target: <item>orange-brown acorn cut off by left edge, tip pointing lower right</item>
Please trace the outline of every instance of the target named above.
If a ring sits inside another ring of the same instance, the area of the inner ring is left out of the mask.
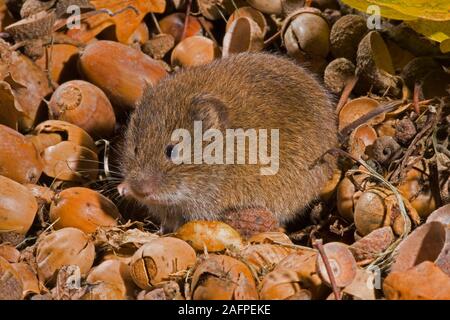
[[[19,132],[0,124],[0,174],[19,183],[35,183],[42,170],[35,146]]]

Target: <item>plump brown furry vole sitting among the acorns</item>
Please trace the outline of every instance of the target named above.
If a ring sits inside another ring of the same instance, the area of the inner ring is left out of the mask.
[[[173,130],[192,131],[201,119],[222,130],[279,129],[278,174],[261,175],[258,165],[172,163],[165,149]],[[131,194],[169,228],[248,207],[267,208],[283,222],[328,179],[329,164],[310,166],[336,145],[336,127],[333,104],[310,73],[286,58],[239,54],[181,70],[146,93],[129,123],[123,173]],[[144,199],[137,193],[146,183],[152,195]]]

